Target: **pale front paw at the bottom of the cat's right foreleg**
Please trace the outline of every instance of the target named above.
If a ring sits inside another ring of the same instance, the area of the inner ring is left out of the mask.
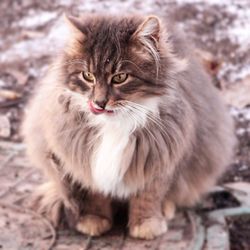
[[[164,218],[152,217],[140,224],[130,226],[129,234],[134,238],[152,240],[167,232],[167,223]]]

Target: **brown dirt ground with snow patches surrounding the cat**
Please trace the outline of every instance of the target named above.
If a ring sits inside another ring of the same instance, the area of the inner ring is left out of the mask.
[[[88,238],[67,228],[56,232],[26,206],[43,177],[24,153],[25,104],[67,36],[63,13],[100,11],[174,18],[235,120],[239,144],[226,175],[199,206],[179,211],[155,241],[127,236],[126,211],[118,212],[109,234]],[[0,249],[250,249],[249,0],[2,0],[0,16]]]

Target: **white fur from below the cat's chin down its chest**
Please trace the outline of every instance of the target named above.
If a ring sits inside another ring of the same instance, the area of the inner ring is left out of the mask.
[[[124,117],[98,116],[93,122],[101,125],[101,140],[91,159],[91,172],[95,188],[104,193],[120,198],[126,198],[137,192],[136,185],[127,186],[124,174],[130,166],[135,150],[135,138],[132,131],[143,127],[147,121],[147,112],[158,112],[158,102],[149,99],[144,103],[144,109],[138,115],[140,119]],[[129,114],[128,114],[129,116]]]

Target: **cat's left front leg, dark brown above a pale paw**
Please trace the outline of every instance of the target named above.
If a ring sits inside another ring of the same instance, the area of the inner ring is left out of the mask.
[[[83,212],[76,224],[76,229],[91,236],[99,236],[112,227],[111,199],[101,194],[87,194]]]

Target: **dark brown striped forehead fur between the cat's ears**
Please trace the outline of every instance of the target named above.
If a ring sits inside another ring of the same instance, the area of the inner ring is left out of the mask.
[[[92,70],[116,71],[121,60],[129,56],[130,38],[139,20],[105,17],[87,20],[84,25],[86,39],[83,49]]]

